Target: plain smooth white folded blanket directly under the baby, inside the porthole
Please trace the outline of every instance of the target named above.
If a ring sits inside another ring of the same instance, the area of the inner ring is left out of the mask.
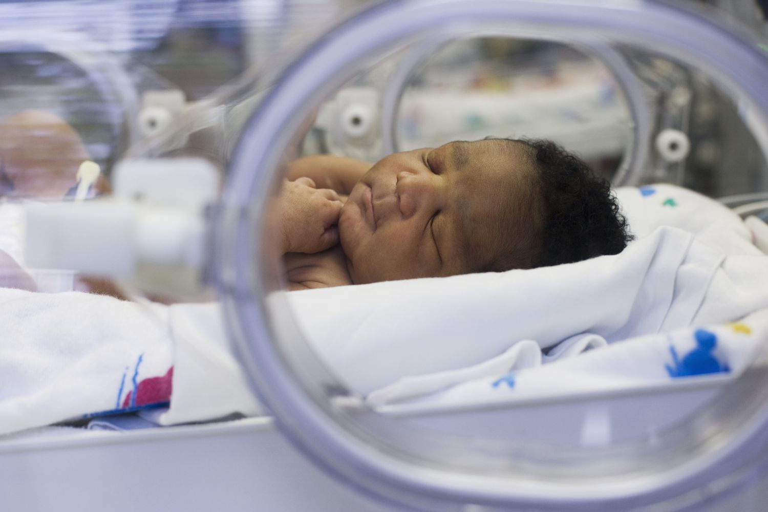
[[[616,256],[306,290],[291,293],[290,304],[319,357],[367,394],[409,375],[478,364],[525,339],[548,348],[584,332],[615,342],[690,325],[723,257],[661,227]],[[768,301],[768,287],[756,292],[750,299]]]

